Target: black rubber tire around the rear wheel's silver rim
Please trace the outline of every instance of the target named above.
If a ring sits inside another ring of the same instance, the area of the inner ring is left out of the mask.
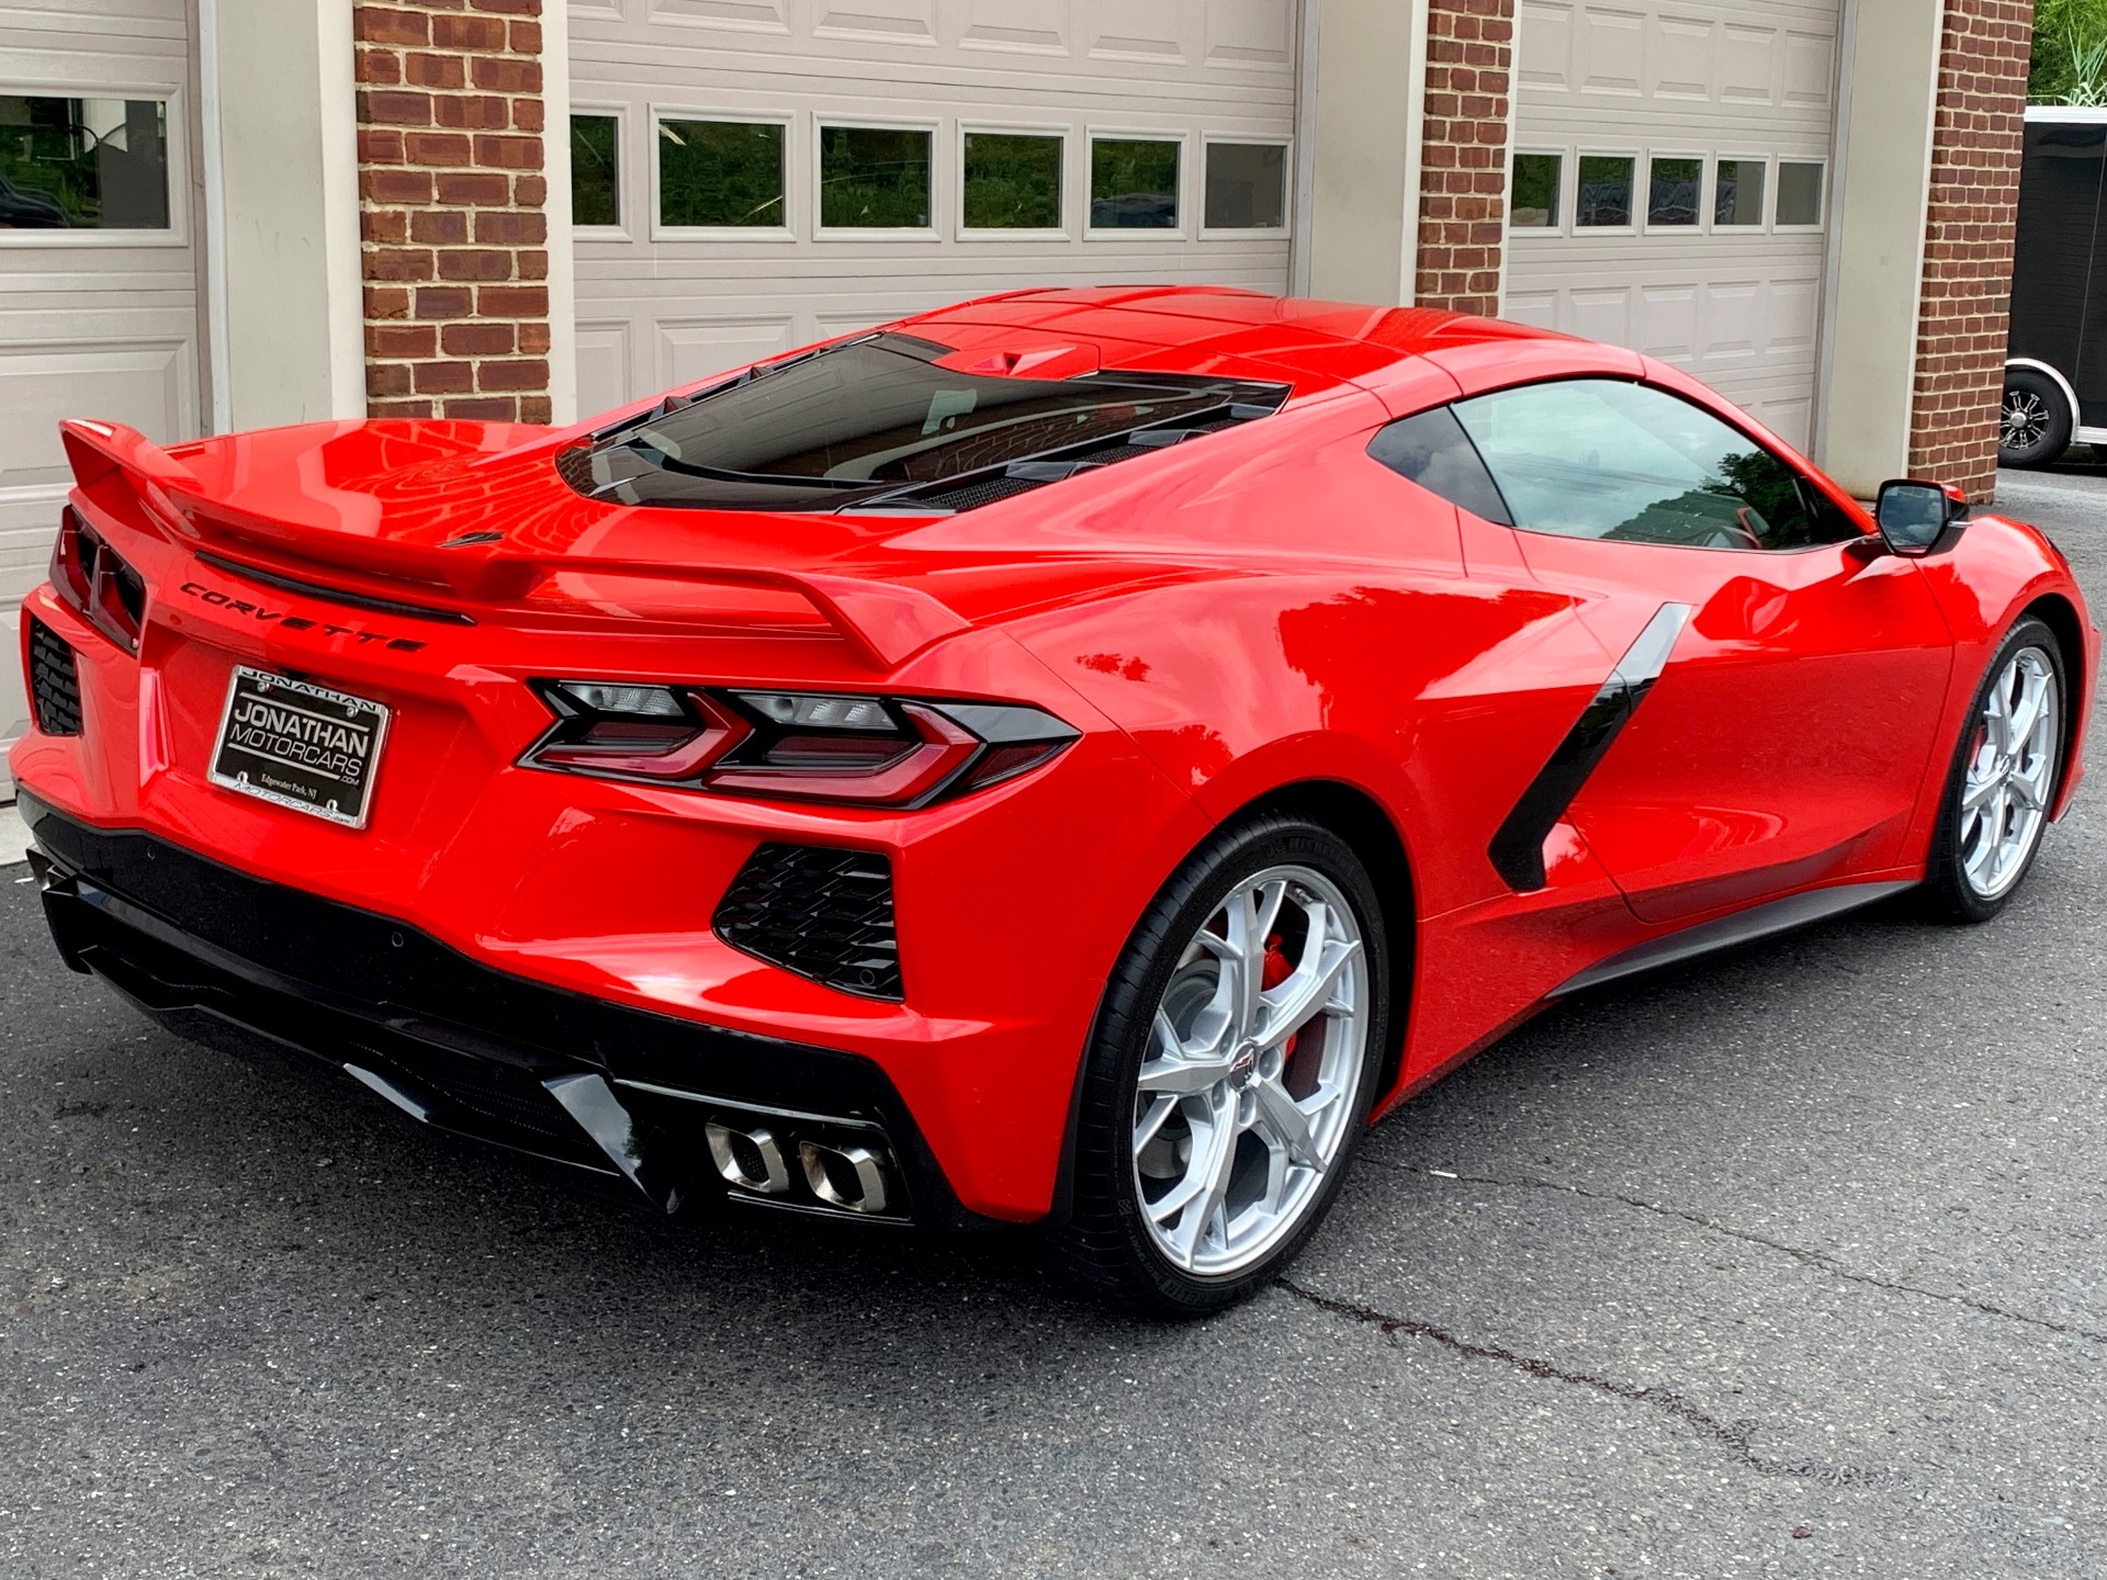
[[[1174,1266],[1157,1247],[1134,1184],[1134,1093],[1148,1049],[1155,1007],[1186,942],[1230,889],[1271,866],[1304,866],[1330,878],[1361,927],[1367,963],[1367,1036],[1355,1112],[1338,1157],[1325,1171],[1302,1222],[1249,1268],[1197,1277]],[[1302,1249],[1323,1222],[1353,1163],[1391,1036],[1389,937],[1382,904],[1367,868],[1321,824],[1258,815],[1226,826],[1165,883],[1134,929],[1108,984],[1091,1032],[1077,1123],[1077,1201],[1068,1224],[1070,1262],[1108,1293],[1161,1315],[1199,1317],[1247,1298]],[[1081,1253],[1081,1256],[1079,1256]]]

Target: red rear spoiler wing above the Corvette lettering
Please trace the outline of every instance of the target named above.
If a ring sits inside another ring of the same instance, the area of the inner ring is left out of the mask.
[[[202,495],[202,485],[190,468],[154,445],[137,428],[70,417],[59,423],[59,436],[65,442],[65,459],[72,463],[80,487],[91,487],[114,472],[122,472],[135,491],[141,485],[150,485],[204,506],[202,512],[179,510],[190,531],[219,529],[251,550],[265,548],[297,556],[310,567],[310,575],[324,565],[312,552],[303,552],[312,550],[312,544],[295,541],[282,525],[259,520],[253,529],[244,531],[244,522],[234,512]],[[893,670],[912,653],[929,647],[929,643],[971,626],[971,621],[927,592],[893,581],[866,581],[853,575],[777,571],[754,565],[645,565],[638,560],[544,558],[508,554],[504,550],[495,554],[464,554],[409,544],[383,546],[371,539],[356,546],[346,541],[335,548],[354,552],[331,556],[327,562],[329,569],[396,579],[398,588],[400,579],[413,579],[421,590],[449,590],[459,598],[483,603],[501,600],[508,594],[518,596],[541,571],[558,569],[794,592],[818,609],[820,617],[841,632],[866,664],[881,670]],[[272,571],[270,565],[259,565],[257,569]],[[284,571],[274,573],[284,575]],[[400,592],[396,590],[394,596],[400,596]]]

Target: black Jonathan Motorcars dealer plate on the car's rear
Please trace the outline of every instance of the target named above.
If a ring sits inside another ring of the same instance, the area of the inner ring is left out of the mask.
[[[365,697],[234,668],[213,748],[213,784],[365,828],[388,710]]]

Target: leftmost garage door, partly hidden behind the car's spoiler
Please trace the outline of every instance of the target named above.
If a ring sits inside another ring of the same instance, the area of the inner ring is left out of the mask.
[[[183,0],[0,4],[0,742],[29,718],[17,624],[70,480],[59,417],[200,428],[188,82]]]

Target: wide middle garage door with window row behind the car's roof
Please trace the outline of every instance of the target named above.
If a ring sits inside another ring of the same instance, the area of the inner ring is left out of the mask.
[[[571,0],[579,411],[1032,284],[1283,291],[1296,0]]]

